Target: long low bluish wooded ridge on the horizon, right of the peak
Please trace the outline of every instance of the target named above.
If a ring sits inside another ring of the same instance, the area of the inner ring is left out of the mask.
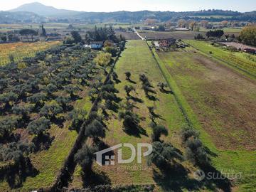
[[[204,18],[204,16],[206,18]],[[218,16],[218,17],[215,17]],[[63,17],[68,18],[68,17]],[[256,22],[256,11],[240,13],[238,11],[223,11],[223,10],[203,10],[203,11],[186,11],[186,12],[174,12],[174,11],[116,11],[110,13],[89,13],[80,12],[72,17],[74,20],[89,21],[89,22],[125,22],[136,23],[143,22],[146,18],[154,18],[157,21],[178,21],[178,19],[184,18],[186,20],[193,19],[195,21],[201,21],[202,18],[208,21],[249,21]]]

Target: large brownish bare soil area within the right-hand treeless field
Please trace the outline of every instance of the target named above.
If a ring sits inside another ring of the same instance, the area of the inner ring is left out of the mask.
[[[176,82],[218,149],[256,149],[256,81],[199,53],[173,54],[191,58],[169,71],[191,80]]]

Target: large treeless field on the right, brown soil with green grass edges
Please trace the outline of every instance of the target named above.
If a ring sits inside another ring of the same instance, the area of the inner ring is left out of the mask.
[[[200,130],[203,143],[217,154],[211,158],[214,166],[224,172],[241,172],[237,190],[254,191],[256,152],[252,132],[255,121],[251,121],[250,115],[243,118],[237,115],[250,109],[249,113],[254,116],[252,106],[256,100],[252,95],[256,94],[255,82],[201,53],[195,53],[193,48],[186,48],[185,52],[155,54],[193,127]],[[245,102],[248,102],[248,107],[241,107]],[[245,121],[244,125],[240,125],[242,121]],[[243,129],[250,126],[252,132]]]

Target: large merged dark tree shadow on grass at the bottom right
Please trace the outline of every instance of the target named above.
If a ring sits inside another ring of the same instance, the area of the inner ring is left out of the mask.
[[[166,164],[158,168],[159,170],[153,170],[154,181],[156,181],[164,191],[181,192],[184,191],[184,189],[188,191],[200,191],[205,188],[210,191],[218,191],[219,189],[225,192],[231,191],[231,183],[228,178],[225,178],[225,176],[213,166],[200,167],[205,174],[203,180],[190,178],[188,174],[194,175],[194,173],[191,173],[176,161],[173,165]],[[215,176],[215,178],[209,178],[209,174]],[[220,177],[222,178],[220,179]]]

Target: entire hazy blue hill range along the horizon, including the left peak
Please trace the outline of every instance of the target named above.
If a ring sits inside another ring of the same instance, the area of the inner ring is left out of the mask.
[[[1,13],[1,12],[0,12]],[[7,17],[1,16],[1,14],[7,14],[8,17],[14,18],[14,20],[8,20]],[[36,21],[46,20],[50,22],[125,22],[125,23],[138,23],[143,22],[146,18],[154,18],[157,21],[178,21],[178,19],[184,18],[186,20],[193,19],[195,21],[201,21],[202,19],[208,21],[249,21],[256,22],[256,11],[240,13],[238,11],[223,11],[218,9],[210,9],[203,11],[116,11],[116,12],[84,12],[84,11],[70,11],[65,9],[56,9],[53,6],[45,6],[40,3],[24,4],[16,9],[12,9],[9,12],[0,14],[0,23],[31,20],[28,13],[33,13],[33,18],[36,17]],[[14,13],[14,15],[11,15]],[[26,13],[26,14],[25,14]],[[17,17],[17,14],[21,18]],[[24,18],[25,17],[25,18]],[[40,19],[39,19],[40,18]],[[24,20],[25,19],[25,20]]]

